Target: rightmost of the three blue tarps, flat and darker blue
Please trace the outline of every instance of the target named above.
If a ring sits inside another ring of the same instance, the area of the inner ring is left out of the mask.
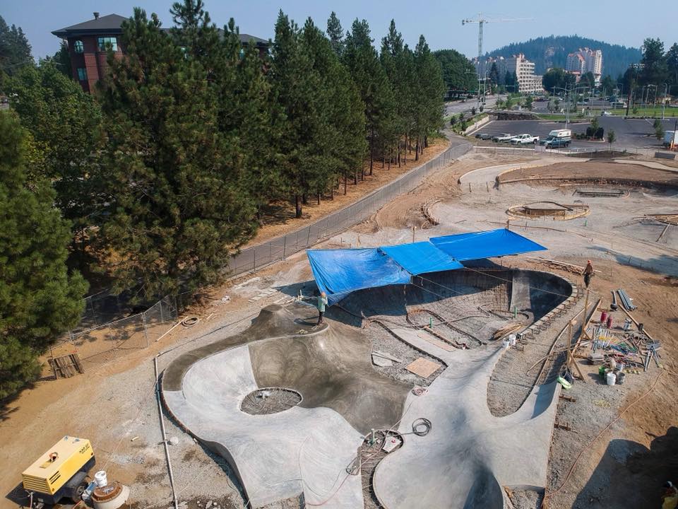
[[[546,247],[537,242],[506,228],[432,237],[430,240],[434,246],[460,262],[546,250]]]

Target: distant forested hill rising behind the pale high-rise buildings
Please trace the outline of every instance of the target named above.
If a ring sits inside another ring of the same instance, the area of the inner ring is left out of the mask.
[[[535,73],[544,74],[549,67],[565,67],[567,54],[583,47],[602,50],[602,74],[609,74],[615,79],[619,74],[624,74],[630,64],[640,62],[642,58],[639,48],[611,45],[578,35],[550,35],[527,42],[514,42],[487,53],[487,56],[510,57],[523,53],[528,60],[535,62]]]

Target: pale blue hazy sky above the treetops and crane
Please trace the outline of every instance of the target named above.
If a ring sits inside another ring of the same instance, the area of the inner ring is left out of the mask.
[[[414,46],[424,34],[432,49],[454,48],[467,56],[477,54],[477,24],[461,25],[463,18],[477,18],[476,1],[448,0],[205,0],[206,8],[218,26],[233,17],[242,33],[268,39],[280,8],[302,25],[311,16],[325,28],[331,11],[335,11],[344,30],[355,18],[366,19],[372,37],[379,42],[388,29],[391,18]],[[59,49],[59,39],[52,30],[81,23],[93,18],[93,11],[102,16],[117,13],[131,16],[134,6],[155,12],[163,25],[172,25],[169,7],[172,0],[0,0],[0,15],[8,25],[23,28],[35,57],[53,54]],[[669,6],[672,7],[669,7]],[[540,35],[582,35],[612,44],[640,47],[645,37],[660,37],[665,47],[678,40],[675,6],[662,0],[591,1],[570,0],[525,1],[485,0],[483,16],[489,19],[532,18],[514,23],[488,23],[484,29],[483,52],[521,42]],[[642,12],[640,12],[642,10]],[[665,15],[662,16],[662,12]]]

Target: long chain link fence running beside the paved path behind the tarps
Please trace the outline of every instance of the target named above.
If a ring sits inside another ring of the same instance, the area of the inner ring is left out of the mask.
[[[393,182],[376,189],[345,209],[331,213],[295,232],[242,250],[230,260],[229,269],[231,275],[237,276],[247,271],[254,271],[272,262],[277,262],[291,254],[311,247],[316,242],[336,235],[360,221],[364,221],[364,219],[367,219],[400,194],[415,189],[424,180],[424,177],[427,177],[430,173],[443,168],[454,159],[463,156],[470,151],[471,147],[472,145],[466,142],[451,146],[439,154],[439,156],[427,161],[418,168],[410,170],[397,180],[393,180]]]

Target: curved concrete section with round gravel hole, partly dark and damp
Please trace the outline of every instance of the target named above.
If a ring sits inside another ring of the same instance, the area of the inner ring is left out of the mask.
[[[270,306],[237,337],[177,358],[163,373],[174,419],[225,457],[251,506],[304,493],[309,505],[362,508],[360,476],[346,473],[362,435],[388,428],[408,386],[371,368],[370,346],[337,324],[316,329],[302,306]],[[262,387],[287,387],[302,402],[276,414],[240,409]]]

